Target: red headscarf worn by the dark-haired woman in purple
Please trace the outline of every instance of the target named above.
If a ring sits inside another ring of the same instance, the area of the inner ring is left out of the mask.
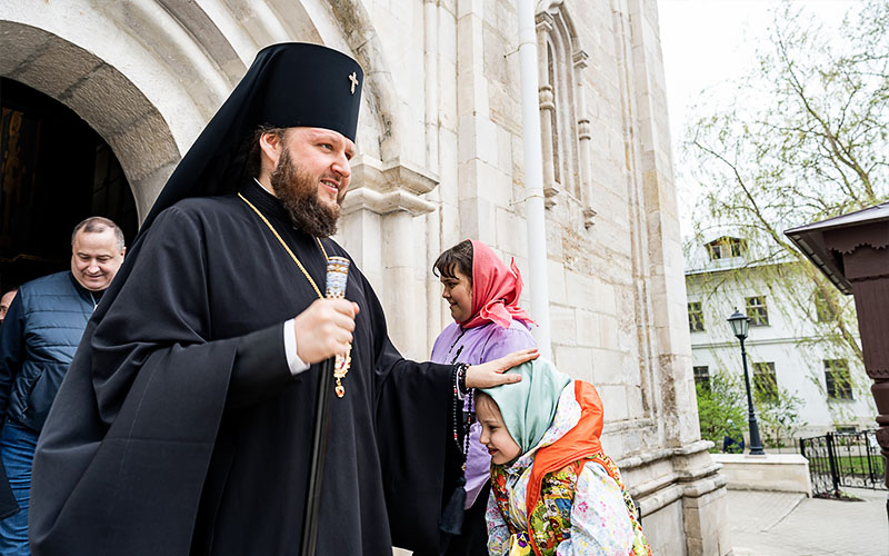
[[[481,241],[472,242],[472,317],[459,322],[463,328],[475,328],[497,322],[509,328],[512,319],[527,325],[536,325],[531,317],[519,307],[521,295],[521,274],[515,259],[510,268],[500,260],[493,250]]]

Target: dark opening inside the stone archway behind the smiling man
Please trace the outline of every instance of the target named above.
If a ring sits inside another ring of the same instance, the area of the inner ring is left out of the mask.
[[[104,216],[138,228],[136,202],[107,142],[61,102],[0,78],[0,290],[70,268],[71,230]]]

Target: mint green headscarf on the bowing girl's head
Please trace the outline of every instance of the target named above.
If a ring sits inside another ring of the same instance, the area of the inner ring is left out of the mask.
[[[509,435],[526,454],[540,443],[552,425],[559,396],[571,378],[543,359],[528,361],[507,373],[521,375],[521,383],[481,391],[497,401]]]

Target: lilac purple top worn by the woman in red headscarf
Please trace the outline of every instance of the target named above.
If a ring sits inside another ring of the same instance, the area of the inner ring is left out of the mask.
[[[436,363],[468,363],[478,365],[497,359],[519,349],[537,347],[531,332],[520,321],[513,320],[509,328],[495,322],[476,328],[460,328],[457,322],[448,325],[436,338],[431,359]],[[469,399],[467,399],[467,405]],[[475,407],[463,407],[475,410]],[[491,456],[481,445],[481,425],[469,429],[469,453],[466,461],[466,508],[475,504],[479,492],[490,477]]]

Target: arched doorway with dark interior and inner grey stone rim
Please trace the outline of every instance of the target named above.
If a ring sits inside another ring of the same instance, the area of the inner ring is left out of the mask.
[[[91,215],[136,237],[179,149],[141,90],[59,36],[0,20],[0,288],[70,265]]]

